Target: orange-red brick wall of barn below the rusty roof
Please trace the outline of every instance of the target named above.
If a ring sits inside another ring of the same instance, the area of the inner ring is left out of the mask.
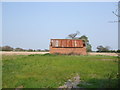
[[[50,53],[55,54],[55,53],[60,53],[60,54],[80,54],[80,55],[87,55],[86,53],[86,48],[54,48],[50,46]]]

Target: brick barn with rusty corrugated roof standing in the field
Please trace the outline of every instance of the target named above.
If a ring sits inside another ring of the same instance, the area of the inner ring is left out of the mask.
[[[86,55],[86,46],[83,40],[78,39],[51,39],[50,53]]]

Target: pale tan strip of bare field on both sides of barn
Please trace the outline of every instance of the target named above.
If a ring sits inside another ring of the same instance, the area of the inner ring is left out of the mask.
[[[2,55],[30,55],[30,54],[46,54],[49,52],[0,52]],[[94,52],[89,52],[88,55],[107,55],[107,56],[118,56],[120,54],[117,53],[94,53]]]

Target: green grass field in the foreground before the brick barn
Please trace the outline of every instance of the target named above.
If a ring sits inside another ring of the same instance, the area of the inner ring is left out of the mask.
[[[79,87],[118,86],[116,56],[3,55],[2,62],[3,88],[58,88],[76,74]]]

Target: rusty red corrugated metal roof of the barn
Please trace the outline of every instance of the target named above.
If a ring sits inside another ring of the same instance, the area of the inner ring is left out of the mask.
[[[84,42],[76,39],[51,39],[52,47],[83,47]]]

